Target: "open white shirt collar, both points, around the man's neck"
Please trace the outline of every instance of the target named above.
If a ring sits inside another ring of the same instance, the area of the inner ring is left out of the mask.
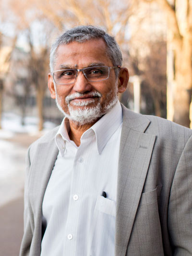
[[[101,154],[112,134],[114,134],[114,132],[119,128],[122,120],[122,108],[118,100],[117,104],[111,110],[109,110],[108,113],[106,113],[91,128],[84,132],[82,138],[95,133],[97,150],[98,153]],[[69,130],[69,120],[65,117],[61,122],[60,128],[55,136],[55,143],[62,156],[64,155],[65,151],[65,141],[73,143],[73,145],[77,148],[75,143],[69,138]]]

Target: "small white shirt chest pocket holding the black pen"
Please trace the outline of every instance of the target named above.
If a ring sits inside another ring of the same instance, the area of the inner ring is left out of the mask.
[[[108,215],[114,216],[116,215],[116,202],[105,198],[102,195],[97,195],[96,199],[96,210],[106,213]]]

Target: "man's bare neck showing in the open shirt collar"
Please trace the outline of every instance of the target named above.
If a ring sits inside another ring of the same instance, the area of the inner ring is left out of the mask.
[[[70,131],[69,131],[69,137],[70,140],[72,140],[77,146],[80,146],[81,144],[81,136],[84,134],[86,130],[88,130],[91,126],[94,125],[98,120],[92,123],[85,123],[83,125],[80,125],[78,122],[73,122],[72,120],[69,120],[70,123]]]

